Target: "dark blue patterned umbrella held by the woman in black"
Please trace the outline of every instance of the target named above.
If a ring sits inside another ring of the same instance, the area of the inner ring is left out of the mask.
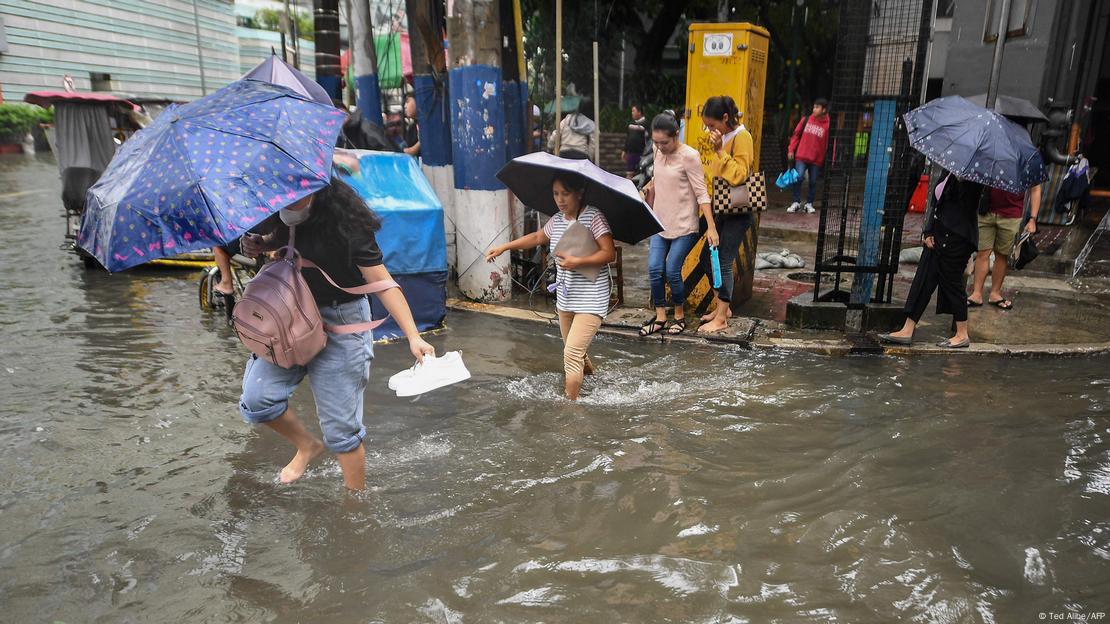
[[[957,178],[1011,193],[1048,180],[1023,128],[959,95],[934,100],[905,119],[910,144]]]

